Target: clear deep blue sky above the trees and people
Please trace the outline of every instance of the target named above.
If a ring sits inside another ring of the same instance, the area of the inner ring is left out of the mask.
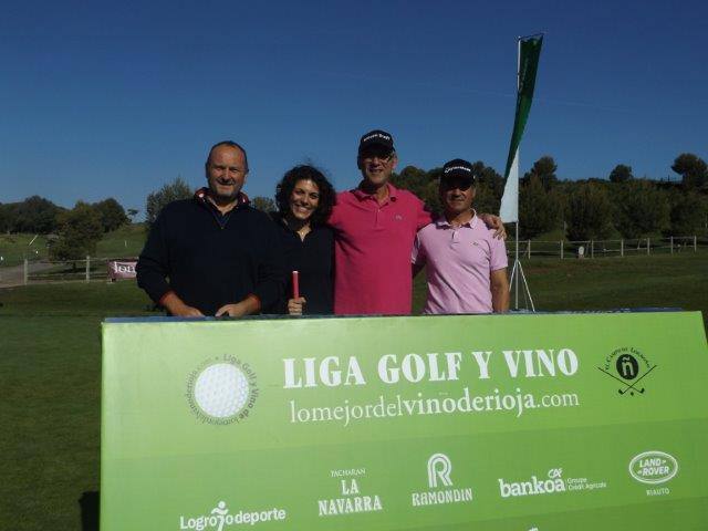
[[[209,146],[248,150],[271,196],[310,160],[355,186],[358,137],[405,165],[503,170],[518,35],[545,32],[521,170],[671,174],[708,158],[708,4],[681,2],[3,2],[0,202],[115,197],[144,210]]]

